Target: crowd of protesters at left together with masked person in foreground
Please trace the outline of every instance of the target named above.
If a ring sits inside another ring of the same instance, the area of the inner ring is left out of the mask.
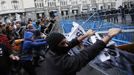
[[[0,23],[0,75],[21,75],[22,68],[29,75],[37,75],[35,69],[44,60],[44,75],[76,75],[106,47],[112,37],[121,32],[121,29],[109,29],[102,40],[71,56],[69,50],[94,35],[95,31],[88,30],[68,41],[61,33],[50,33],[54,23],[55,20],[44,17],[37,21],[29,19],[25,25],[20,21]]]

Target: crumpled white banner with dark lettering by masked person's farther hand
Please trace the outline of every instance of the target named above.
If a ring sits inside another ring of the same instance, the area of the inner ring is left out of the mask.
[[[75,37],[79,37],[79,36],[84,35],[86,33],[85,30],[83,29],[83,27],[81,25],[79,25],[78,23],[72,22],[72,25],[73,26],[71,28],[71,32],[64,33],[65,37],[69,41]],[[86,38],[83,43],[89,43],[89,42],[95,43],[97,39],[101,40],[101,37],[99,36],[98,33],[95,33],[94,36],[91,36],[90,38]]]

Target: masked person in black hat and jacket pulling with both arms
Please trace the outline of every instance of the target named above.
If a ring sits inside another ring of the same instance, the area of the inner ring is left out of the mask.
[[[83,49],[74,56],[70,56],[68,51],[95,32],[88,30],[83,36],[79,36],[70,42],[60,33],[51,33],[47,37],[50,50],[46,55],[46,75],[76,75],[76,72],[94,59],[106,47],[111,38],[120,32],[121,30],[117,28],[110,29],[102,40],[97,40],[92,46]]]

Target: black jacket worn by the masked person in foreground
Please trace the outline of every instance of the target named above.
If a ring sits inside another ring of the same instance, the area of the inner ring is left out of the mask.
[[[72,45],[76,44],[76,41],[73,40]],[[49,51],[46,56],[45,75],[76,75],[76,72],[94,59],[105,46],[104,42],[98,40],[75,56],[57,55]]]

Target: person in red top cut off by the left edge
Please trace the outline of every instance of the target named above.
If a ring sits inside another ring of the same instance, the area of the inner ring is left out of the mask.
[[[0,75],[8,75],[10,73],[10,44],[6,35],[2,33],[0,27]]]

